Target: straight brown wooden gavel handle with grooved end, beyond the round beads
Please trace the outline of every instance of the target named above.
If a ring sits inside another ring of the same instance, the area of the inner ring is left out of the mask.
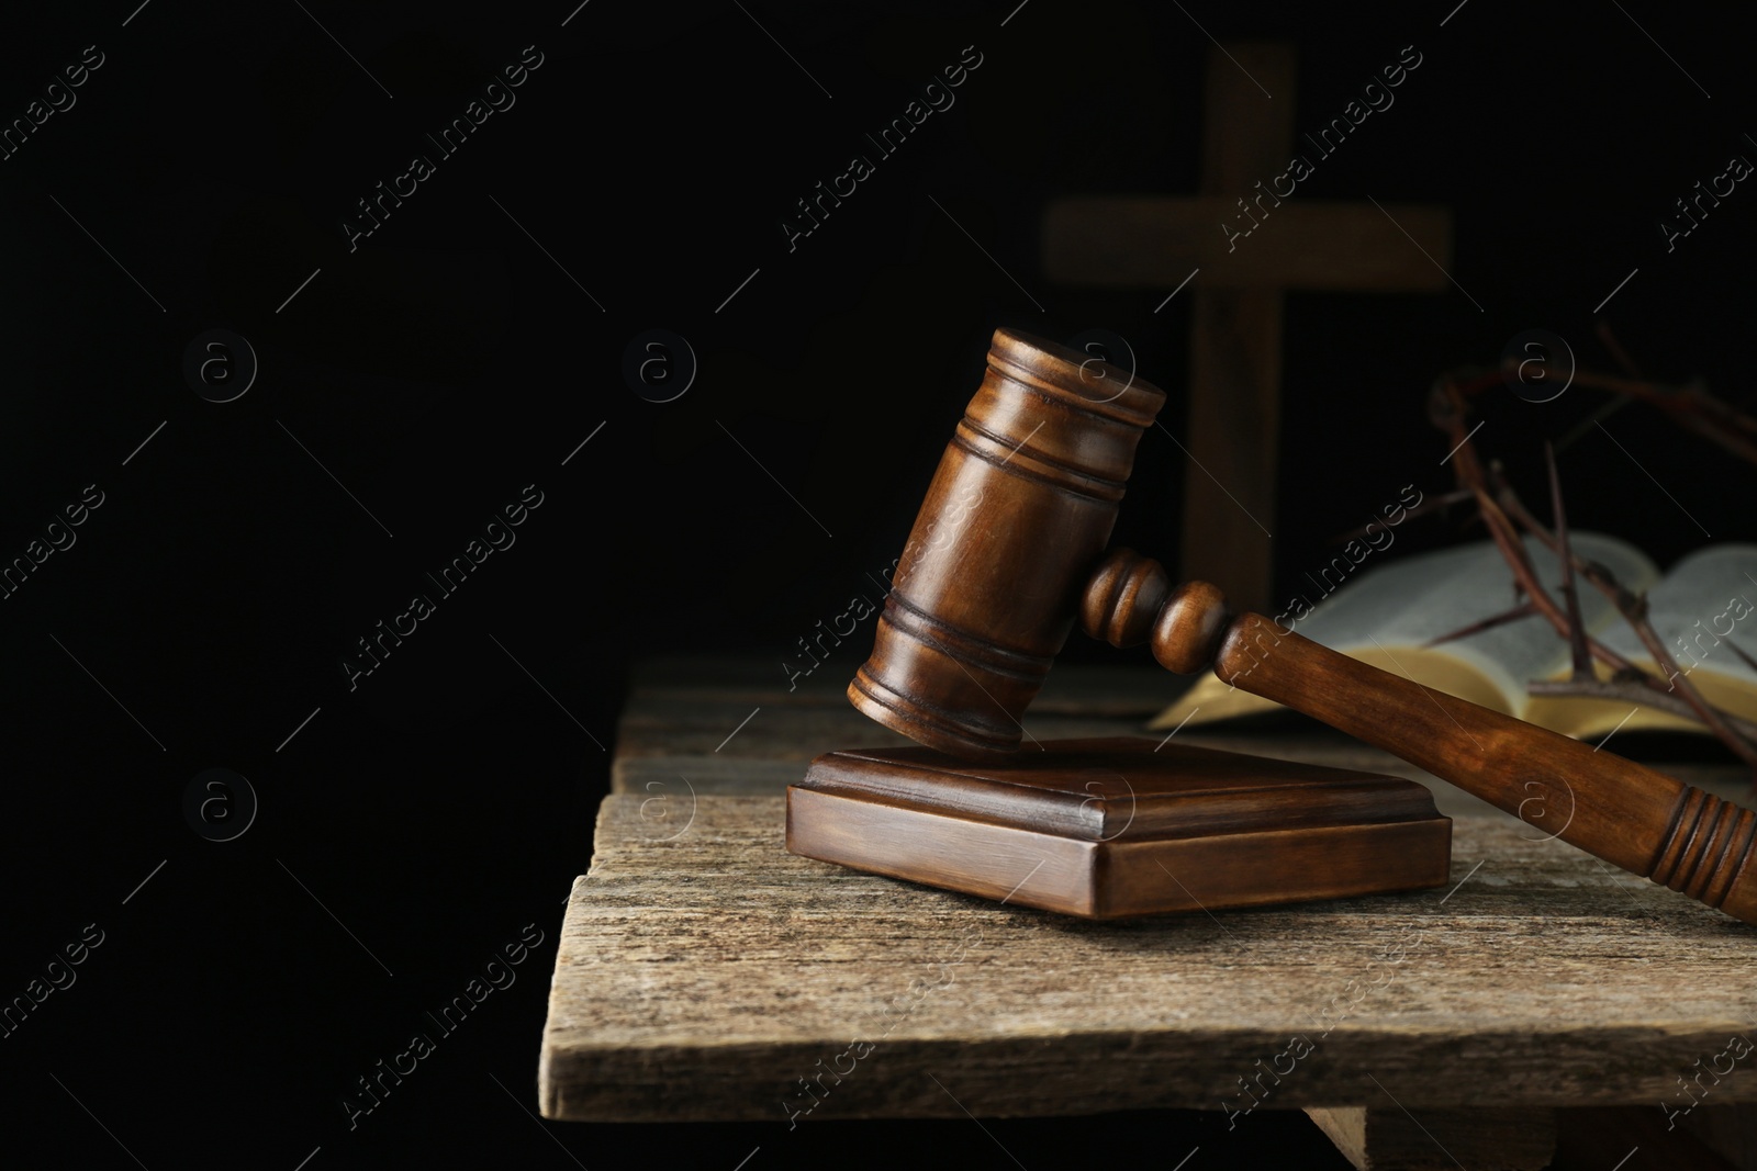
[[[1757,923],[1757,813],[1281,630],[1225,629],[1214,674],[1376,744],[1544,834]]]

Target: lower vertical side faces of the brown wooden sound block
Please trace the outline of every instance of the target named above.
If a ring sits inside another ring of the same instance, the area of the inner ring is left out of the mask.
[[[787,850],[1114,920],[1441,887],[1451,869],[1451,818],[1089,841],[789,785]]]

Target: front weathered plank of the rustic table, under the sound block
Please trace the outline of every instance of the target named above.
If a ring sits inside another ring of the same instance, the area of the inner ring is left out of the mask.
[[[782,818],[780,797],[699,797],[678,832],[604,801],[546,1117],[1239,1110],[1295,1034],[1312,1050],[1265,1110],[1379,1087],[1411,1110],[1653,1106],[1757,1017],[1750,929],[1500,815],[1455,820],[1455,890],[1126,923],[792,857]],[[1757,1101],[1757,1071],[1715,1094]]]

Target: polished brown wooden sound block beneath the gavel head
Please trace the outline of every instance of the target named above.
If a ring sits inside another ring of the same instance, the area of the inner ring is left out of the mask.
[[[1437,887],[1451,818],[1393,776],[1109,737],[979,765],[926,748],[828,753],[787,790],[787,850],[1123,918]]]

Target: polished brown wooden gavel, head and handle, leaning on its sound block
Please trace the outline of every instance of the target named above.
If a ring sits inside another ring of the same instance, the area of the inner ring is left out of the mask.
[[[1530,781],[1573,794],[1553,834],[1632,874],[1757,923],[1757,813],[1565,736],[1339,655],[1205,581],[1172,588],[1128,550],[1105,553],[1140,434],[1165,393],[1109,363],[996,330],[982,386],[928,488],[849,699],[958,757],[1019,748],[1021,716],[1075,616],[1167,669],[1323,720],[1525,816]],[[1553,816],[1553,811],[1548,811]],[[1539,825],[1539,829],[1550,829]]]

